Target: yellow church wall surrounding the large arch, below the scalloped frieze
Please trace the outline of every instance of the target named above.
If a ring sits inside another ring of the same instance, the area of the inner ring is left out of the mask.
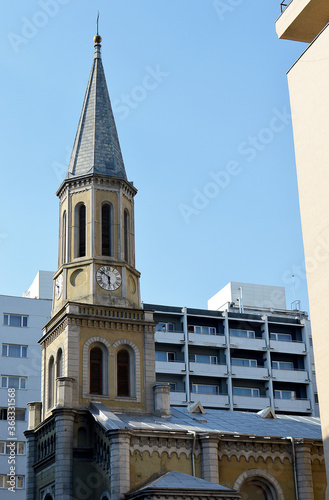
[[[276,458],[274,462],[272,459],[267,458],[264,462],[262,458],[255,461],[250,457],[249,461],[247,461],[244,457],[241,457],[238,461],[236,457],[232,457],[231,460],[228,460],[228,458],[224,456],[219,460],[219,483],[222,486],[233,488],[234,482],[238,476],[249,469],[263,469],[269,472],[280,483],[284,497],[287,500],[295,498],[293,467],[287,458],[281,463],[278,458]]]

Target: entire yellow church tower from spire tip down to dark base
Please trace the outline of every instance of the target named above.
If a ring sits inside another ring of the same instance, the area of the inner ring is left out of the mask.
[[[59,267],[40,340],[42,401],[29,404],[27,500],[71,500],[73,478],[90,474],[91,458],[83,453],[101,439],[90,405],[110,414],[154,411],[155,324],[141,307],[135,268],[137,190],[127,180],[98,34],[94,42],[71,160],[57,192]],[[97,474],[109,487],[110,476]]]

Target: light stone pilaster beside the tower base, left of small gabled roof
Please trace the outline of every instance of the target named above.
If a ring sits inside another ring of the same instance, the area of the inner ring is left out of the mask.
[[[130,490],[130,435],[118,431],[110,438],[111,500],[119,500]]]

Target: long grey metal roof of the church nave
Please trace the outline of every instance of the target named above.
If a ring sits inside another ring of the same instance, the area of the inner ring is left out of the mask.
[[[320,419],[299,415],[263,418],[257,413],[206,409],[205,414],[189,413],[187,408],[172,407],[170,418],[155,415],[115,414],[102,403],[93,402],[89,411],[105,429],[217,432],[240,436],[304,438],[321,440]]]

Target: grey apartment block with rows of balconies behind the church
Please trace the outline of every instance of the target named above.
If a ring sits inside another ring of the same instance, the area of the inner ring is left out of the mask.
[[[285,289],[229,283],[208,309],[144,304],[154,311],[157,382],[170,403],[318,416],[307,313],[287,310]]]

